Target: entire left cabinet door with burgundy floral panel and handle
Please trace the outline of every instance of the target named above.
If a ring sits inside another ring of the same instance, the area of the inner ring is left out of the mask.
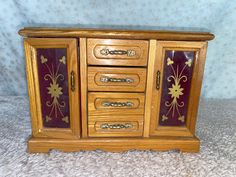
[[[76,39],[25,39],[34,137],[80,136]]]

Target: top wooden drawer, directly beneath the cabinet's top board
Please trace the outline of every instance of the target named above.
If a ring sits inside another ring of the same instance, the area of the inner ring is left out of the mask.
[[[148,41],[88,39],[89,65],[146,66]]]

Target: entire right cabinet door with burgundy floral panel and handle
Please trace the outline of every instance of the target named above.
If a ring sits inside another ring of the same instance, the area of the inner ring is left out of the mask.
[[[157,42],[150,135],[194,136],[206,46]]]

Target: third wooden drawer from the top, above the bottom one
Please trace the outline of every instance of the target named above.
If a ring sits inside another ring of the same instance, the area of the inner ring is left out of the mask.
[[[88,94],[89,115],[144,114],[144,93]]]

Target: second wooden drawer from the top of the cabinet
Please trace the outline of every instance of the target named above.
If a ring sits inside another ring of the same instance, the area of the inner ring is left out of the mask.
[[[145,68],[88,67],[89,91],[144,92]]]

